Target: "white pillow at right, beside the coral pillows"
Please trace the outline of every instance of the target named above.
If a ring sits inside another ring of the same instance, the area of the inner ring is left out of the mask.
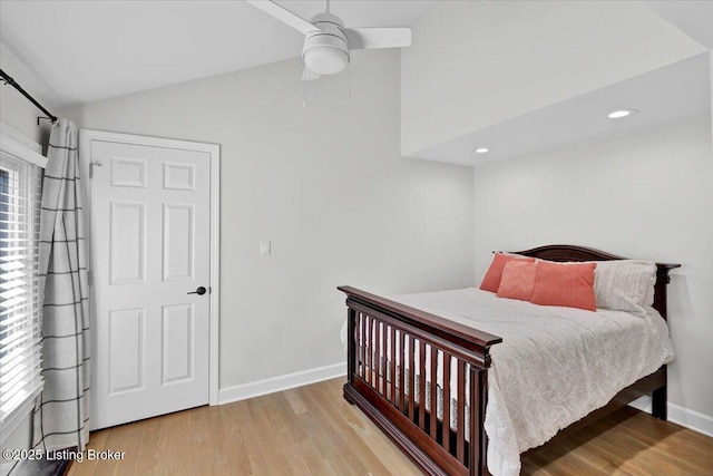
[[[653,304],[656,263],[638,260],[596,263],[594,293],[597,308],[646,315],[646,308]]]

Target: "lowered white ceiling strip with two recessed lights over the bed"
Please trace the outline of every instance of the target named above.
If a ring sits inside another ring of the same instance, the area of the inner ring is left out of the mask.
[[[637,109],[638,114],[609,119],[607,115],[617,109]],[[705,52],[448,140],[414,157],[477,165],[710,114]],[[490,152],[476,154],[478,147],[489,147]]]

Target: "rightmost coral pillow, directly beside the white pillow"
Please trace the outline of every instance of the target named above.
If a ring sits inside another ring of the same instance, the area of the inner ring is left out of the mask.
[[[530,302],[596,311],[594,270],[596,263],[537,263]]]

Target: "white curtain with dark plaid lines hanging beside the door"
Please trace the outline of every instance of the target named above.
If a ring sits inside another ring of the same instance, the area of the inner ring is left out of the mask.
[[[35,402],[32,446],[84,450],[89,439],[89,286],[72,122],[52,125],[47,158],[39,269],[45,389]]]

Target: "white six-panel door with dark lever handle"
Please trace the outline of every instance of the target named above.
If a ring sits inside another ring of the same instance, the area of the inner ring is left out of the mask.
[[[90,140],[92,429],[208,402],[211,154]],[[178,145],[177,145],[178,144]],[[206,293],[195,293],[198,288]],[[193,292],[193,293],[191,293]]]

